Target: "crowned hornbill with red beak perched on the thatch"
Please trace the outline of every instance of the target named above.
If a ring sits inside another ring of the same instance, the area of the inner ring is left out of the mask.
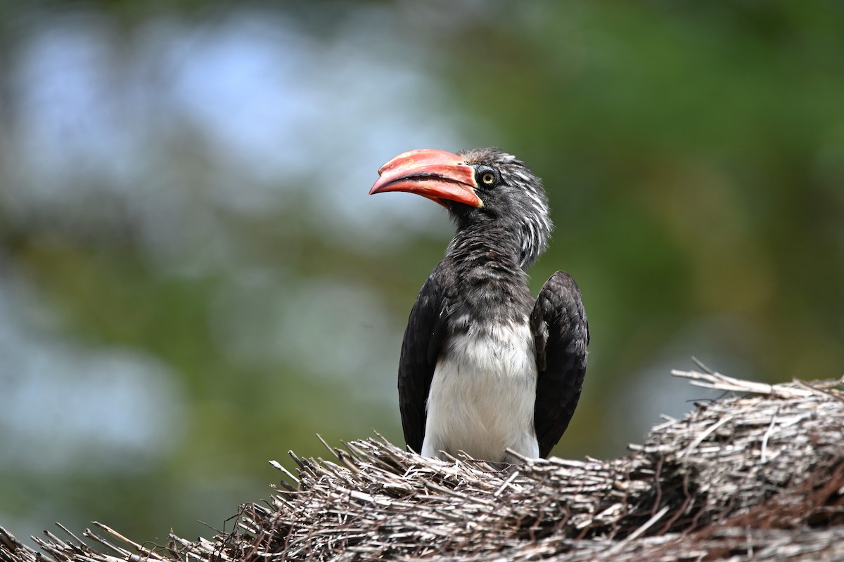
[[[551,233],[542,182],[496,148],[413,150],[378,170],[370,194],[417,193],[457,226],[410,312],[398,367],[404,439],[427,457],[547,457],[574,414],[589,328],[558,271],[534,301],[527,270]]]

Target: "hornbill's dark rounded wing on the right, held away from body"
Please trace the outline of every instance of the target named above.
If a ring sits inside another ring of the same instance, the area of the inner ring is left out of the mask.
[[[557,271],[545,282],[530,320],[539,372],[533,426],[539,456],[545,458],[575,413],[586,374],[589,324],[569,274]]]

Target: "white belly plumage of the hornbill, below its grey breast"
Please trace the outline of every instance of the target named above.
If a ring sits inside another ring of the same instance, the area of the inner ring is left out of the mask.
[[[459,335],[448,342],[430,385],[422,454],[467,452],[493,462],[505,453],[537,458],[533,429],[536,355],[527,323]]]

